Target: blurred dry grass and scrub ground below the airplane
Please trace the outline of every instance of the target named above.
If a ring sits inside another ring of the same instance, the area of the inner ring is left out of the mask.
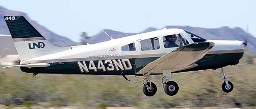
[[[168,96],[163,90],[162,75],[153,76],[157,93],[147,97],[142,92],[143,77],[97,75],[50,75],[0,68],[0,104],[31,107],[102,108],[129,106],[136,108],[170,107],[253,107],[256,105],[256,66],[246,63],[255,56],[246,56],[243,65],[226,67],[228,79],[235,85],[231,93],[221,90],[220,69],[173,74],[179,92]],[[28,103],[29,104],[29,103]],[[29,106],[29,105],[28,105]]]

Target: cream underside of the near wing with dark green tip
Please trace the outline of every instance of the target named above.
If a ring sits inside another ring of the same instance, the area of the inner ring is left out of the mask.
[[[212,42],[197,42],[178,47],[149,63],[136,75],[159,74],[163,73],[163,70],[175,72],[197,67],[198,65],[195,63],[202,59],[213,46]]]

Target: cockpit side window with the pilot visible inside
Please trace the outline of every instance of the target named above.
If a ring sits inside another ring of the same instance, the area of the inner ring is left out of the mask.
[[[164,47],[179,47],[188,44],[188,41],[181,34],[172,34],[163,37]]]

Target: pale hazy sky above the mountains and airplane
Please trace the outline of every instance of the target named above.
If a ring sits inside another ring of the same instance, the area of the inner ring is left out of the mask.
[[[101,29],[141,32],[167,25],[218,28],[241,27],[256,36],[256,1],[1,1],[1,6],[27,13],[49,30],[78,41]]]

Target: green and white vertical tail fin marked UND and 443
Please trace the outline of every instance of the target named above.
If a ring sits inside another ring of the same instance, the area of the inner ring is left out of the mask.
[[[23,16],[4,16],[21,61],[67,49],[46,40]]]

